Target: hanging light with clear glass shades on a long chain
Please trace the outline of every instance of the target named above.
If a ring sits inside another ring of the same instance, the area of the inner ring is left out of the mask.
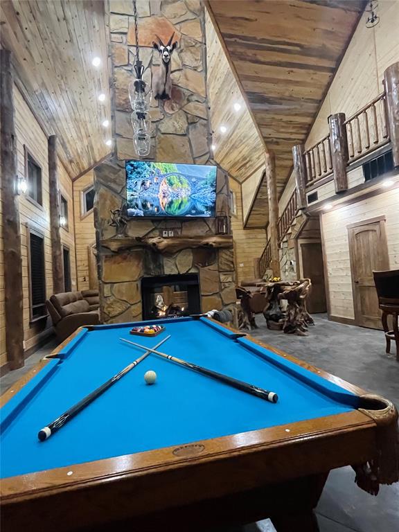
[[[136,36],[135,78],[129,84],[130,105],[132,105],[132,127],[134,150],[139,157],[146,157],[151,148],[151,117],[149,114],[152,91],[147,90],[143,80],[144,67],[140,61],[139,27],[137,24],[137,6],[134,0],[134,33]]]

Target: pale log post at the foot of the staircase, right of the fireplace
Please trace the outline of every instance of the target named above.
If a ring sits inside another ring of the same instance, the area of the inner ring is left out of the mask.
[[[278,256],[278,199],[276,186],[276,157],[274,152],[265,154],[265,171],[267,181],[267,201],[269,203],[269,228],[270,228],[270,250],[272,260],[270,268],[273,275],[280,276],[280,258]]]

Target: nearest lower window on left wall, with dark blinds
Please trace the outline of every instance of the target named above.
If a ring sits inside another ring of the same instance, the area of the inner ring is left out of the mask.
[[[28,229],[28,264],[30,281],[30,320],[46,316],[46,277],[44,273],[44,237]]]

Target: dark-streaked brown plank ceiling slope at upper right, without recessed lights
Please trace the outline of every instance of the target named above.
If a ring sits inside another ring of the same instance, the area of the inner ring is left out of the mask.
[[[365,1],[209,0],[208,6],[267,149],[276,154],[281,194],[292,146],[308,136]],[[247,227],[267,223],[265,186]]]

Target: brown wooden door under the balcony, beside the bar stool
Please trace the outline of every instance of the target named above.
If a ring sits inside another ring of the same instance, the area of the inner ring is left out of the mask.
[[[348,226],[355,323],[382,329],[373,270],[389,269],[384,218]]]

